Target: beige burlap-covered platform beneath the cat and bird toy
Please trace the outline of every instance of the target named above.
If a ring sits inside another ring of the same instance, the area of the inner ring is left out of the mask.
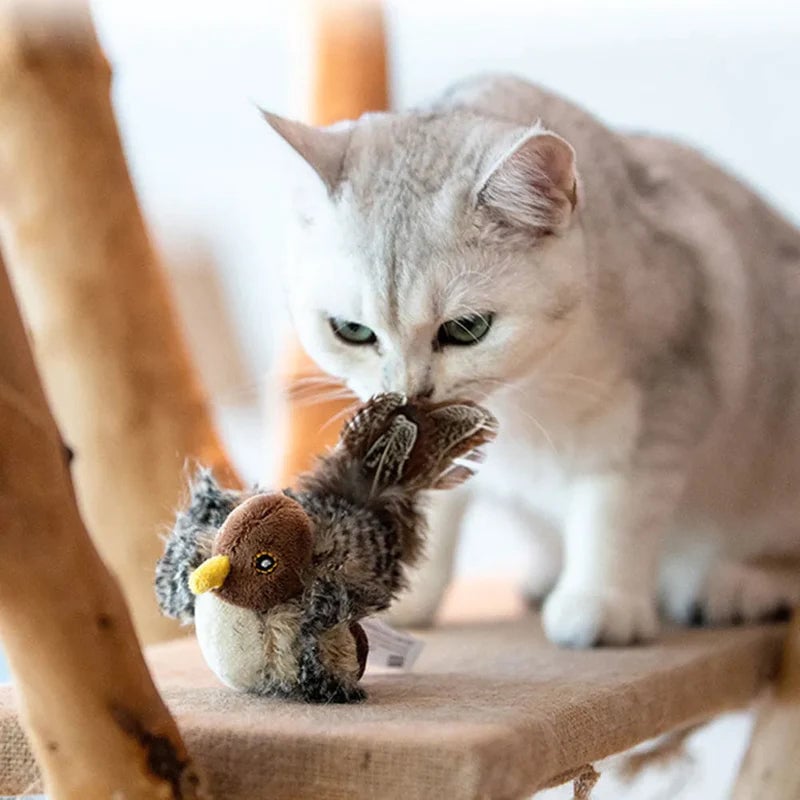
[[[221,800],[520,798],[747,704],[780,663],[783,626],[673,630],[648,647],[571,652],[544,639],[535,615],[515,612],[509,589],[456,595],[442,626],[420,634],[413,673],[367,675],[360,706],[231,692],[193,639],[154,646],[148,660]],[[502,618],[466,614],[465,595]],[[0,794],[36,786],[14,709],[3,687]]]

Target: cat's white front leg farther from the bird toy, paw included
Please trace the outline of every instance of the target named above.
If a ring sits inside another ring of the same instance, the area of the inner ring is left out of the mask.
[[[575,479],[564,570],[543,610],[552,641],[589,647],[656,636],[659,558],[682,486],[672,470]]]

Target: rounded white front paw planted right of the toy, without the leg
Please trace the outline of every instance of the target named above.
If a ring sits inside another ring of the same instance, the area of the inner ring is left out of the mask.
[[[563,647],[634,644],[658,634],[653,600],[615,589],[556,587],[545,601],[542,623],[548,639]]]

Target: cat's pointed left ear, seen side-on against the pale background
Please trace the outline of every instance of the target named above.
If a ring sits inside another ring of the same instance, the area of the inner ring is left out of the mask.
[[[317,128],[279,117],[264,109],[261,109],[261,113],[269,126],[303,158],[322,179],[328,192],[333,194],[342,178],[352,123]]]

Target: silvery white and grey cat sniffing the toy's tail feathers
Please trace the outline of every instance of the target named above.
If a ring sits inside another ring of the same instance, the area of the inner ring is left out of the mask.
[[[513,76],[327,128],[265,117],[298,156],[308,353],[362,399],[500,423],[435,501],[396,622],[431,621],[474,506],[533,534],[527,591],[564,646],[800,599],[755,560],[800,554],[800,231],[694,150]]]

